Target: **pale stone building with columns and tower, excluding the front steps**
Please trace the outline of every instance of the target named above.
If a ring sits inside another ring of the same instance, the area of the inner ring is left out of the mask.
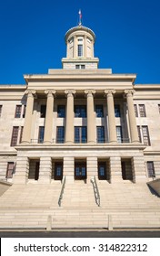
[[[50,184],[65,176],[67,183],[88,183],[95,176],[138,183],[159,177],[160,85],[98,69],[89,28],[71,28],[65,42],[63,69],[25,75],[23,86],[0,86],[0,179]]]

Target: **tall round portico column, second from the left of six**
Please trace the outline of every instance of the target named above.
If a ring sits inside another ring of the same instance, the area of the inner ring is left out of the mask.
[[[45,115],[45,143],[52,143],[52,130],[53,130],[53,109],[54,109],[54,91],[45,91],[47,94],[46,101],[46,115]]]

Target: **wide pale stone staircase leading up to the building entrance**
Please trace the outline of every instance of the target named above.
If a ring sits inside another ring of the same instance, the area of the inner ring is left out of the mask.
[[[13,185],[0,197],[1,229],[160,229],[160,198],[146,184],[97,181],[101,206],[95,204],[91,183]],[[108,221],[109,217],[109,221]]]

